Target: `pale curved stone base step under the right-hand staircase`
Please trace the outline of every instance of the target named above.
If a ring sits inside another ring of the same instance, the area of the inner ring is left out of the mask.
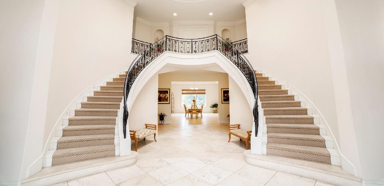
[[[244,156],[245,162],[250,165],[296,174],[335,185],[361,186],[360,178],[347,173],[340,166],[282,156],[256,155],[251,154],[250,150],[244,151]]]

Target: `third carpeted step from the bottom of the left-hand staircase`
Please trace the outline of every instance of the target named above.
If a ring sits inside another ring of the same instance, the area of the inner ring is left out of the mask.
[[[115,125],[69,125],[63,128],[63,136],[114,134]]]

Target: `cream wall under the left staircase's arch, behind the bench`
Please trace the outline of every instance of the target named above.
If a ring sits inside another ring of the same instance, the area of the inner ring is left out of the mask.
[[[129,130],[141,130],[145,123],[157,124],[157,74],[141,89],[128,117]]]

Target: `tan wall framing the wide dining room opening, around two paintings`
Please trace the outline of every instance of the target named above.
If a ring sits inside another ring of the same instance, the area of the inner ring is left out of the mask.
[[[172,81],[218,81],[218,112],[219,121],[228,121],[229,104],[221,103],[221,89],[229,88],[228,74],[222,72],[167,72],[159,74],[159,88],[170,89]],[[172,90],[171,90],[172,91]],[[170,104],[158,104],[157,112],[166,113],[170,116]],[[166,117],[165,122],[170,122],[170,117]]]

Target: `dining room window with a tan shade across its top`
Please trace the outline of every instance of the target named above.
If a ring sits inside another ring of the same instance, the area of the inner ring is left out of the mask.
[[[182,89],[181,91],[181,106],[185,104],[185,106],[190,107],[192,105],[192,100],[196,100],[196,105],[202,105],[206,103],[205,99],[205,89],[199,90],[189,90]]]

